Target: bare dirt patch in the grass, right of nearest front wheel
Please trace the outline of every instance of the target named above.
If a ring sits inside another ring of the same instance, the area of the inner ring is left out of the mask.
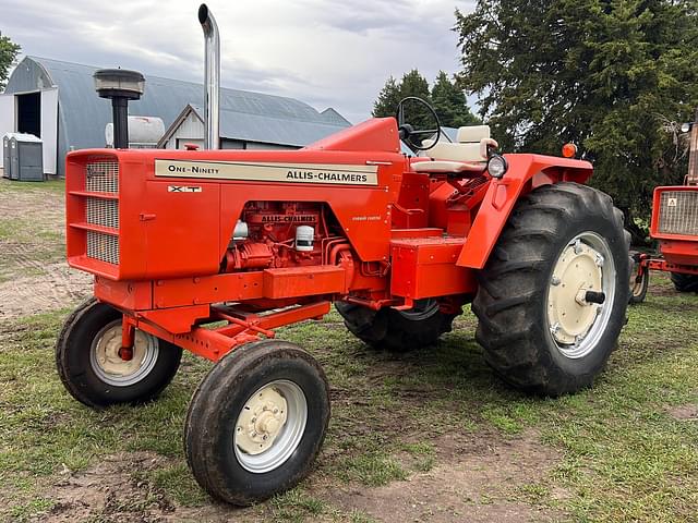
[[[535,433],[512,440],[494,434],[473,441],[442,437],[436,449],[437,465],[426,473],[373,489],[339,488],[329,499],[386,523],[558,521],[559,513],[537,510],[518,499],[558,460]]]

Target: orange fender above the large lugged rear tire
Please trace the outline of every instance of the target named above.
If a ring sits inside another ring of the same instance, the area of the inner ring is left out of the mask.
[[[521,196],[551,183],[585,183],[593,172],[591,163],[583,160],[542,155],[504,157],[509,169],[502,179],[492,179],[456,262],[459,267],[484,267],[512,209]]]

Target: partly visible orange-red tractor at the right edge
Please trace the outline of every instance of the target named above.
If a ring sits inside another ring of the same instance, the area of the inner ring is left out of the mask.
[[[645,301],[650,270],[671,272],[678,292],[698,292],[698,111],[696,121],[684,123],[682,131],[690,132],[688,174],[684,185],[654,190],[650,236],[661,256],[631,252],[630,303]]]

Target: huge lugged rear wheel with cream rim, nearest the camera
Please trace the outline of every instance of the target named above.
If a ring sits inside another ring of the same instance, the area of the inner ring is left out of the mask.
[[[557,183],[521,198],[472,303],[494,370],[544,396],[590,386],[625,324],[628,246],[623,214],[604,193]]]

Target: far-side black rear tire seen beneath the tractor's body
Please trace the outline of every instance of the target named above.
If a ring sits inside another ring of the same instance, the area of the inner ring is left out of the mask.
[[[455,314],[445,314],[433,300],[420,300],[410,311],[372,311],[352,303],[335,303],[347,329],[374,349],[407,352],[436,343],[450,332]]]

